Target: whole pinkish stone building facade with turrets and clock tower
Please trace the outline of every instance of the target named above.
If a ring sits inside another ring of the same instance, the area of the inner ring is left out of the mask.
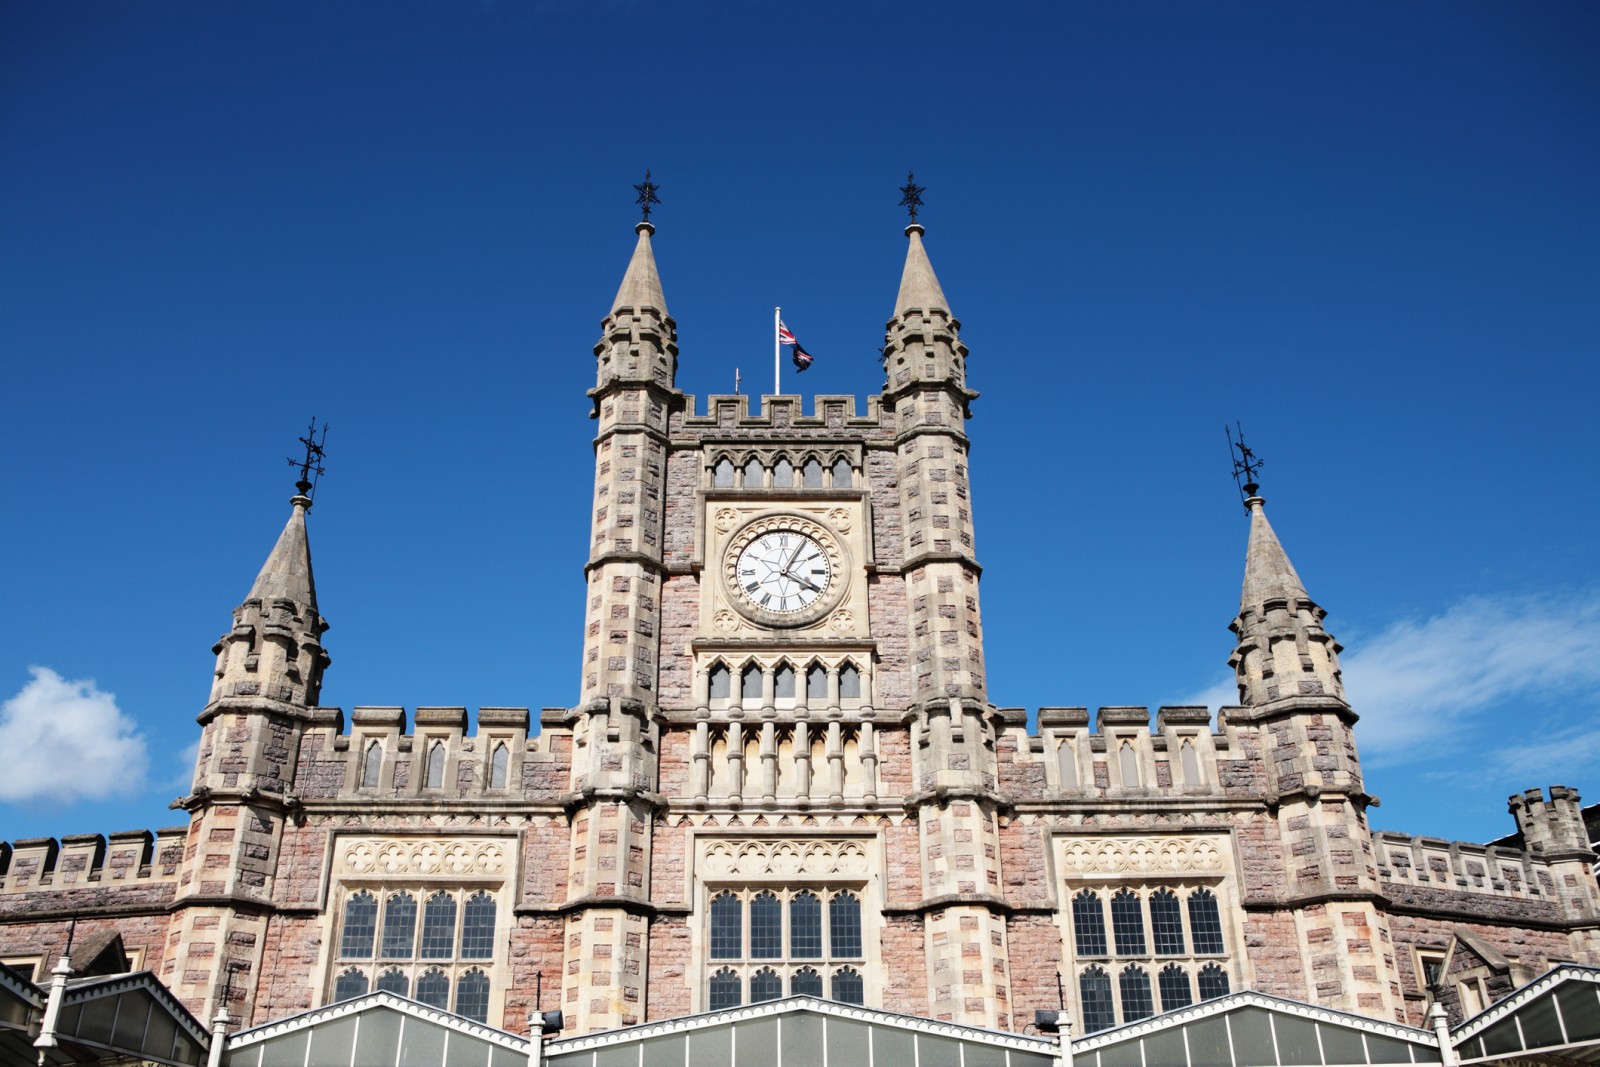
[[[296,496],[214,648],[189,825],[0,845],[0,960],[40,979],[75,918],[202,1019],[382,989],[570,1033],[794,993],[998,1030],[1064,995],[1088,1033],[1258,990],[1421,1025],[1600,963],[1573,790],[1514,797],[1493,845],[1368,827],[1339,645],[1261,498],[1237,705],[989,702],[978,394],[923,227],[883,390],[758,413],[677,390],[653,234],[595,346],[578,702],[322,707]]]

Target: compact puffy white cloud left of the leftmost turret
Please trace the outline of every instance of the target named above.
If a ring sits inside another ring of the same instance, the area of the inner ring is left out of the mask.
[[[0,801],[98,800],[136,792],[150,763],[138,725],[93,678],[29,667],[34,680],[0,704]]]

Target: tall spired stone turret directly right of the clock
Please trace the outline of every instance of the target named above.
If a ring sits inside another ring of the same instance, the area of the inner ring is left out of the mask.
[[[922,243],[909,240],[886,325],[883,410],[894,419],[910,606],[914,771],[923,846],[928,1006],[938,1019],[1011,1027],[995,736],[984,689],[979,566],[963,430],[976,392],[966,346]]]

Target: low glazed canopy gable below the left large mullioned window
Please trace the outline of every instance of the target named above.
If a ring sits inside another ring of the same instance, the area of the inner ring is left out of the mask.
[[[240,1030],[229,1038],[222,1064],[349,1064],[357,1041],[360,1062],[398,1067],[526,1067],[528,1062],[528,1038],[378,990]]]

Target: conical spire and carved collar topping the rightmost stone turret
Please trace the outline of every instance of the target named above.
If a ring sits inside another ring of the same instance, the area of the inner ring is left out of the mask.
[[[1248,486],[1254,490],[1254,486]],[[1306,592],[1294,565],[1267,522],[1266,501],[1250,496],[1250,544],[1229,665],[1238,702],[1261,707],[1290,697],[1334,697],[1344,704],[1339,643],[1322,627],[1326,614]]]

